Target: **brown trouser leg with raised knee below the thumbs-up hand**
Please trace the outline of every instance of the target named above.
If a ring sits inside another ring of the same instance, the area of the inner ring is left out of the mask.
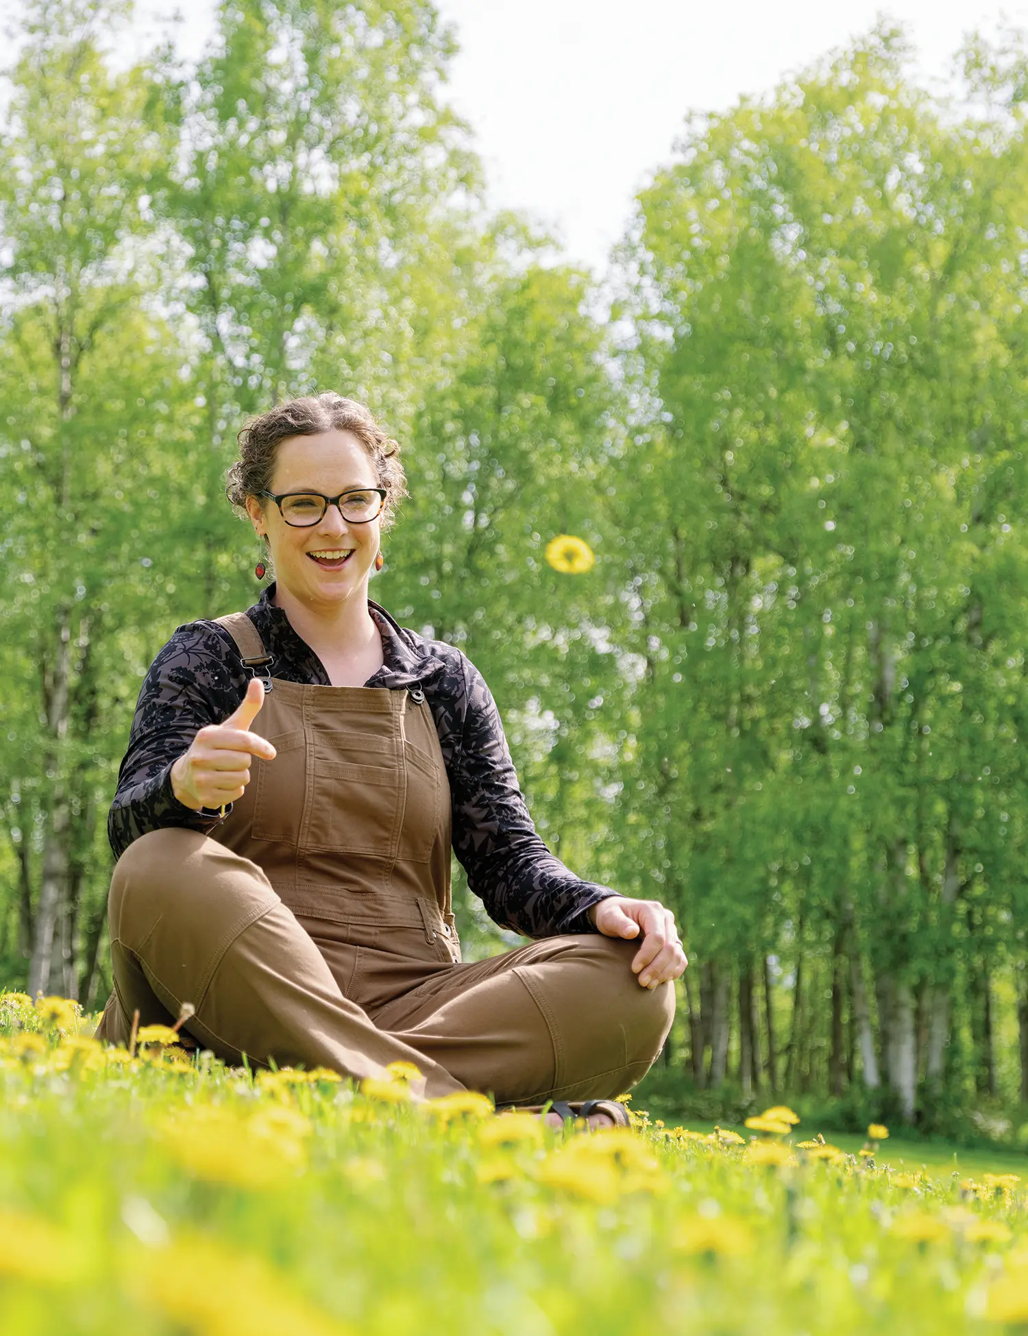
[[[459,1082],[376,1029],[339,991],[316,946],[256,866],[188,830],[152,831],[115,867],[108,902],[115,993],[97,1037],[128,1038],[130,1017],[186,1029],[219,1058],[382,1075],[414,1062],[427,1096]]]

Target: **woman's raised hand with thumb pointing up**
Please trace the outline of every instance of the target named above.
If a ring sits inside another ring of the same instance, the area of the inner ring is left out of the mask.
[[[263,704],[264,687],[251,677],[239,708],[223,724],[208,724],[196,733],[171,767],[171,790],[184,807],[194,812],[202,807],[224,810],[250,783],[250,758],[275,759],[271,743],[250,732]]]

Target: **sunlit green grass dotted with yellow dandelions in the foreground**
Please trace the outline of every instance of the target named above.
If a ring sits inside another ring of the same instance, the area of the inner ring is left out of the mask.
[[[1028,1325],[1016,1176],[897,1172],[798,1129],[562,1136],[478,1096],[414,1104],[403,1070],[251,1079],[81,1027],[0,997],[5,1336]]]

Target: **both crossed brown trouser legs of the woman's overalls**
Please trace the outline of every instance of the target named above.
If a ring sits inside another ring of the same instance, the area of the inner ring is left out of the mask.
[[[218,1057],[328,1066],[378,1075],[414,1062],[426,1094],[462,1086],[498,1101],[606,1098],[634,1085],[660,1053],[674,991],[642,989],[637,946],[558,937],[506,955],[439,969],[376,1006],[375,959],[362,953],[356,999],[343,995],[315,941],[260,868],[186,830],[142,836],[115,868],[109,899],[115,995],[97,1034],[128,1038],[128,1018],[168,1023],[183,1002],[187,1029]],[[387,939],[387,934],[386,934]],[[328,961],[330,943],[324,943]]]

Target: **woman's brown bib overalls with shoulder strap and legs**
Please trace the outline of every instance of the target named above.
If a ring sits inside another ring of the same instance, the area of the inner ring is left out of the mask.
[[[256,672],[244,613],[219,619]],[[258,673],[259,675],[259,673]],[[450,911],[450,787],[419,688],[266,680],[251,725],[274,743],[218,839],[135,840],[109,896],[115,991],[97,1035],[186,1029],[228,1062],[380,1075],[415,1063],[427,1096],[609,1098],[648,1070],[672,985],[630,970],[638,943],[553,937],[461,963]]]

